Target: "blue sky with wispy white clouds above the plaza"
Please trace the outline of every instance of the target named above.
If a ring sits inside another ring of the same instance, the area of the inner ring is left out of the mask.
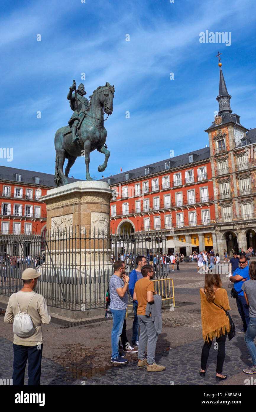
[[[67,93],[81,73],[88,98],[115,84],[105,177],[205,147],[218,110],[218,50],[231,108],[256,127],[254,0],[21,1],[1,11],[1,147],[13,147],[4,166],[54,173],[55,131],[72,114]],[[231,32],[231,45],[200,43],[206,30]],[[90,154],[92,177],[101,178],[103,158]],[[85,179],[84,157],[71,175]]]

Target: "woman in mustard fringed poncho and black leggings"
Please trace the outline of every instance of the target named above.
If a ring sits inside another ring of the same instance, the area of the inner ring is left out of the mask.
[[[205,376],[206,363],[209,356],[212,340],[216,337],[218,344],[216,380],[226,379],[222,375],[222,367],[225,358],[225,343],[227,333],[230,331],[229,319],[225,310],[230,310],[228,294],[222,289],[219,274],[205,274],[205,287],[200,289],[201,314],[203,326],[204,345],[201,357],[201,376]]]

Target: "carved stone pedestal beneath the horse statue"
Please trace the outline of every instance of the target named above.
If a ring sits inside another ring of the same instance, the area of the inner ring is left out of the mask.
[[[97,306],[105,298],[113,267],[109,229],[112,197],[113,190],[106,182],[82,181],[48,190],[40,198],[47,212],[40,281],[61,283],[67,290],[71,285],[74,303],[90,300]],[[53,299],[55,290],[58,288],[51,288]]]

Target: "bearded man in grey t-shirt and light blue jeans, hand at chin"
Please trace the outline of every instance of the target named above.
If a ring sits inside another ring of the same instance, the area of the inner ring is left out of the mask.
[[[129,276],[125,275],[125,262],[117,260],[114,265],[114,274],[109,281],[110,305],[112,313],[113,328],[111,331],[112,355],[111,362],[126,363],[128,359],[122,358],[118,351],[118,342],[122,334],[125,314],[128,304],[127,290],[129,288]],[[124,281],[123,279],[124,278]]]

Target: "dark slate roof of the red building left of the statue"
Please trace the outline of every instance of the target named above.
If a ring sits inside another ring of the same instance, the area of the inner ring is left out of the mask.
[[[16,174],[21,175],[21,181],[16,180]],[[39,186],[56,187],[54,183],[54,175],[49,173],[35,172],[31,170],[17,169],[15,167],[0,166],[0,180],[13,180],[17,184],[21,183],[35,183],[35,177],[40,178]],[[77,182],[81,179],[68,178],[69,183]]]

